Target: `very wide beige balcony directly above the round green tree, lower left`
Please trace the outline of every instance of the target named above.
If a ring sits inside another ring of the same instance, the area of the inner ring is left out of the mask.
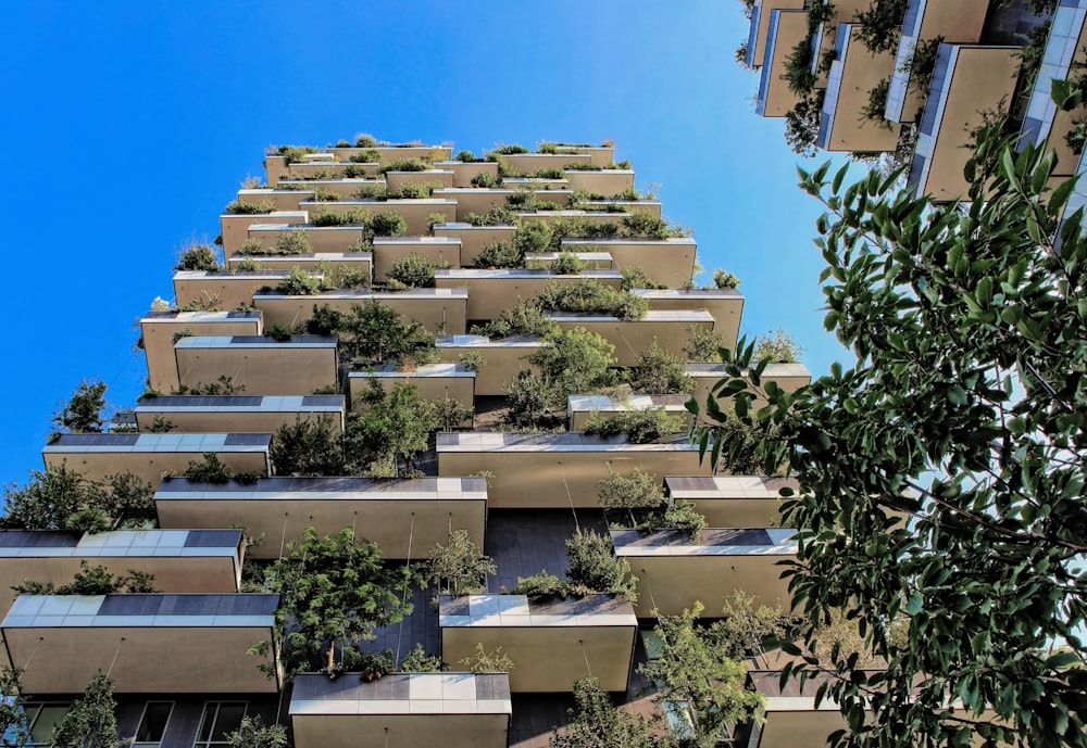
[[[487,482],[483,478],[264,478],[255,483],[198,483],[167,478],[154,494],[163,527],[218,528],[224,518],[264,543],[246,553],[278,558],[305,528],[322,535],[354,528],[387,558],[425,558],[450,528],[483,547]]]

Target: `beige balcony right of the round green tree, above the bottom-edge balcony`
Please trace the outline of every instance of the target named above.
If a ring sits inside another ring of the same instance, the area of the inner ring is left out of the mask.
[[[624,598],[608,595],[529,601],[524,595],[442,595],[441,658],[457,662],[497,647],[513,660],[510,690],[572,692],[586,675],[626,690],[638,621]]]

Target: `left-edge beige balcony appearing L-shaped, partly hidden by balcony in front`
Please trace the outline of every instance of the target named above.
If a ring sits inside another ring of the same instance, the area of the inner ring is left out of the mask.
[[[259,335],[264,331],[260,312],[155,312],[139,320],[147,357],[148,386],[171,392],[179,384],[174,335]]]

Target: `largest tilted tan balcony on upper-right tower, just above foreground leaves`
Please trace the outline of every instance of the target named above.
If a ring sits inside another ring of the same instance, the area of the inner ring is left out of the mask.
[[[921,118],[909,186],[917,194],[950,201],[966,194],[962,170],[973,154],[971,131],[980,112],[995,110],[1015,92],[1017,47],[940,45],[936,72]]]

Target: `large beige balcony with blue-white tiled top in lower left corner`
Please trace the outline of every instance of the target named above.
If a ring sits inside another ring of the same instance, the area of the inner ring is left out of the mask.
[[[122,694],[266,694],[247,650],[272,638],[278,595],[20,595],[0,622],[24,693],[78,694],[109,672]]]

